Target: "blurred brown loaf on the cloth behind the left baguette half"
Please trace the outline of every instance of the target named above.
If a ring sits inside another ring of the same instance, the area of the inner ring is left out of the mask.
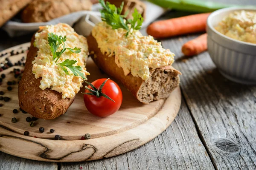
[[[22,12],[24,23],[47,22],[76,11],[91,10],[90,0],[33,0]]]

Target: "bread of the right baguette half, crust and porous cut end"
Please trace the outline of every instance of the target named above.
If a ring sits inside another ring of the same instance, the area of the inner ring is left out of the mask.
[[[125,76],[122,68],[116,65],[115,57],[108,57],[102,54],[98,43],[92,34],[87,37],[90,55],[96,65],[106,74],[114,77],[129,90],[142,103],[148,104],[153,100],[164,99],[179,86],[180,71],[171,65],[151,69],[151,76],[147,80],[134,77],[132,74]]]

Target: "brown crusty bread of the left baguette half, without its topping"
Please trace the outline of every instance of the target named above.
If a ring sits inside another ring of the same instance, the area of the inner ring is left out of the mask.
[[[62,99],[62,94],[58,91],[49,88],[45,90],[39,88],[42,78],[36,79],[35,75],[32,73],[32,61],[37,56],[38,52],[38,48],[33,45],[34,41],[35,35],[32,37],[23,76],[19,82],[19,105],[24,111],[37,118],[55,119],[67,111],[75,97],[73,99]]]

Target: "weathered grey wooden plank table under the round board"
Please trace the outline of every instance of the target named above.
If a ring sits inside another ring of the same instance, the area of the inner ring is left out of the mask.
[[[256,0],[218,1],[256,5]],[[186,14],[189,13],[171,11],[161,19]],[[4,31],[0,34],[0,50],[29,42],[32,36],[9,38]],[[175,121],[157,138],[119,156],[78,163],[32,161],[0,152],[0,169],[255,170],[256,86],[236,84],[222,77],[207,52],[184,57],[181,46],[197,36],[161,40],[165,48],[176,54],[174,67],[183,73],[180,77],[183,100]]]

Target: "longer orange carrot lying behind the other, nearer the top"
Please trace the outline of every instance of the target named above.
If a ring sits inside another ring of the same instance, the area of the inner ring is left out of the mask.
[[[205,31],[207,17],[210,13],[195,14],[185,17],[160,20],[151,23],[147,33],[156,38],[172,37],[182,34]]]

